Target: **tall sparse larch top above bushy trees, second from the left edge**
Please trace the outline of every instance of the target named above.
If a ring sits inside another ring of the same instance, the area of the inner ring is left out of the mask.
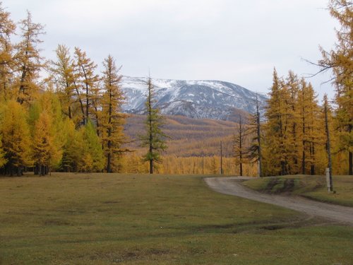
[[[20,42],[16,45],[14,54],[16,83],[18,89],[17,101],[27,105],[36,97],[39,87],[37,79],[43,67],[42,57],[38,45],[42,42],[40,35],[44,34],[44,27],[32,21],[32,15],[20,21]]]

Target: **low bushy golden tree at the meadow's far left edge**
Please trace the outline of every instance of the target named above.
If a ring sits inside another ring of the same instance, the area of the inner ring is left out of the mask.
[[[30,129],[27,114],[18,102],[10,100],[1,111],[2,145],[7,163],[4,172],[22,175],[23,168],[31,165]]]

